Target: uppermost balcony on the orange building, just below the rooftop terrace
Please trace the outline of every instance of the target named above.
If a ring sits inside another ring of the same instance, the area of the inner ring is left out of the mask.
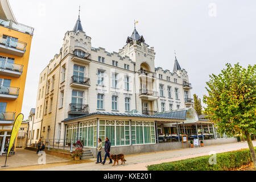
[[[27,43],[10,36],[0,35],[0,52],[22,57],[26,52]]]

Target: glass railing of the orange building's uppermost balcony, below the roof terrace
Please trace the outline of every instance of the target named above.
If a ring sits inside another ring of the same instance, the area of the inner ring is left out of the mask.
[[[0,35],[0,44],[6,47],[15,48],[24,52],[26,51],[26,46],[27,46],[27,43],[25,42],[19,41],[18,39],[13,38],[11,36],[4,36],[4,35]]]

